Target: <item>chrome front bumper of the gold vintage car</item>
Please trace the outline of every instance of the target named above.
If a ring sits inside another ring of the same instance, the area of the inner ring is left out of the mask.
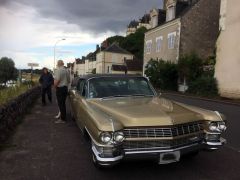
[[[121,154],[118,156],[113,156],[113,157],[101,157],[101,152],[99,152],[96,148],[96,145],[92,145],[92,151],[94,155],[96,156],[97,160],[100,162],[100,164],[103,165],[111,165],[118,163],[124,158],[129,158],[133,155],[139,155],[139,154],[161,154],[161,153],[168,153],[168,152],[175,152],[175,151],[180,151],[181,155],[183,154],[188,154],[193,151],[197,150],[216,150],[219,149],[219,147],[223,146],[226,144],[226,140],[224,138],[220,138],[219,141],[216,142],[210,142],[203,140],[199,143],[193,143],[190,145],[186,146],[181,146],[178,148],[172,148],[172,149],[154,149],[154,148],[149,148],[146,150],[138,150],[138,151],[121,151]]]

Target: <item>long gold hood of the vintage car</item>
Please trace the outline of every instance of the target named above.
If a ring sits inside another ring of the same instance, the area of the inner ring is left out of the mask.
[[[94,99],[88,103],[123,127],[169,126],[217,118],[211,111],[159,97]]]

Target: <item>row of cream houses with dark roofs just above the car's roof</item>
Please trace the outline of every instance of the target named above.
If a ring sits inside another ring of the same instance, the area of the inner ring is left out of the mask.
[[[74,76],[83,76],[92,73],[142,74],[142,65],[141,60],[114,43],[107,48],[97,46],[95,52],[75,59],[75,62],[68,66]]]

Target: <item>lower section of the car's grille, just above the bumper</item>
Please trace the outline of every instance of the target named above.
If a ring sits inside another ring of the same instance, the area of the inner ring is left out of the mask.
[[[201,142],[203,137],[204,134],[200,133],[195,136],[188,136],[173,140],[124,141],[123,149],[125,152],[159,150],[159,149],[165,150]]]

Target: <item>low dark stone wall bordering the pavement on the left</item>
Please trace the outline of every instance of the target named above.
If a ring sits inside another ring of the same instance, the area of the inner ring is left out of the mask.
[[[39,86],[34,87],[8,103],[0,105],[0,142],[5,141],[15,129],[20,118],[39,97],[40,91]]]

